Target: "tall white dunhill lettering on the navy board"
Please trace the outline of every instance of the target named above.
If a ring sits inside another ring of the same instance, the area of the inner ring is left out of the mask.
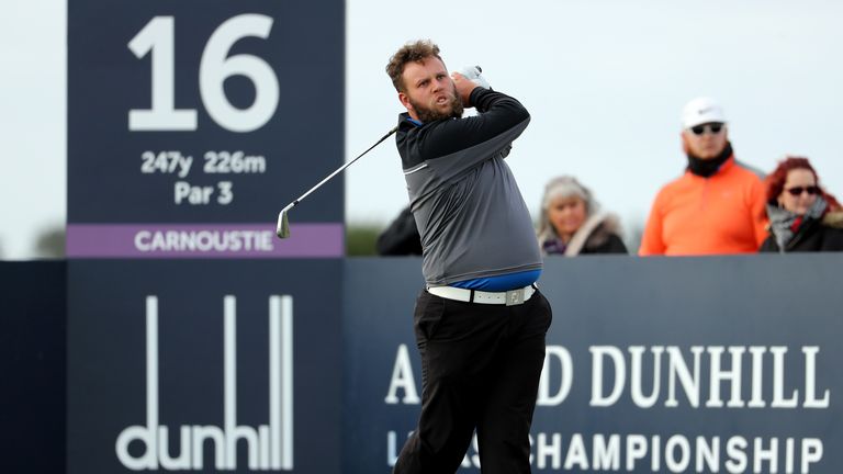
[[[224,307],[224,421],[222,427],[182,425],[178,455],[169,452],[167,426],[158,419],[158,298],[146,297],[146,426],[131,426],[117,436],[115,451],[130,470],[202,470],[206,441],[212,441],[217,471],[237,469],[237,442],[248,445],[252,471],[293,469],[293,298],[269,297],[269,424],[237,426],[237,300],[223,298]],[[143,443],[135,456],[130,443]]]

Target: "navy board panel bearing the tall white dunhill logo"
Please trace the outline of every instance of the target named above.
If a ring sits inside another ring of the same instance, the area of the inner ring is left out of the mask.
[[[68,472],[339,472],[340,261],[69,267]]]

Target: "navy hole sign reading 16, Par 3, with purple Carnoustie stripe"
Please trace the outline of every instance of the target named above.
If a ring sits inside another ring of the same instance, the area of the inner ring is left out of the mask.
[[[342,180],[273,236],[342,162],[344,45],[338,0],[69,1],[67,256],[340,257]]]

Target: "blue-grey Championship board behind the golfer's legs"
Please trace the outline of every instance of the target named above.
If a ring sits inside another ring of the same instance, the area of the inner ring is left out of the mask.
[[[841,472],[841,263],[836,255],[548,259],[540,290],[553,324],[533,472]],[[347,262],[347,472],[389,473],[415,428],[419,266]],[[363,275],[383,282],[379,304]],[[460,472],[480,472],[477,449]]]

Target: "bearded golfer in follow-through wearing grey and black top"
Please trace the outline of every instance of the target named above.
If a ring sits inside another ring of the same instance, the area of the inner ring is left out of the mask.
[[[396,145],[427,283],[413,316],[422,415],[393,472],[453,473],[476,430],[484,474],[529,473],[551,308],[535,285],[541,255],[504,158],[530,115],[481,79],[449,75],[429,41],[398,49],[386,72],[407,110]],[[472,106],[477,115],[463,119]]]

